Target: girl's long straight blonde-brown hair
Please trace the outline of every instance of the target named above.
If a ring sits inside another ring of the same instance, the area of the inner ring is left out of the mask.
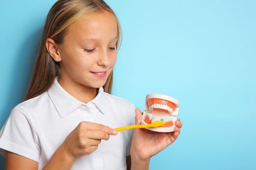
[[[118,26],[117,51],[121,45],[121,26],[117,15],[103,0],[58,0],[50,9],[45,20],[42,39],[34,64],[34,70],[30,79],[29,88],[25,100],[36,97],[46,92],[53,84],[55,77],[61,76],[58,62],[49,55],[45,43],[47,38],[52,38],[57,44],[63,43],[68,27],[84,15],[99,13],[102,11],[112,13]],[[113,82],[113,71],[108,76],[104,91],[111,93]]]

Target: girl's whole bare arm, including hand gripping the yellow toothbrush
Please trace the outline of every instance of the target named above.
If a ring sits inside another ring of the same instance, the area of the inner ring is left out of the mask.
[[[81,122],[67,136],[43,170],[70,170],[77,158],[98,148],[101,140],[108,140],[117,131],[91,122]],[[37,170],[38,162],[6,151],[6,170]]]

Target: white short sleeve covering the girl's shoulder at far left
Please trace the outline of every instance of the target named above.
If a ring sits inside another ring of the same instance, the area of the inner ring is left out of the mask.
[[[0,131],[0,153],[13,152],[34,161],[39,160],[40,147],[34,137],[33,127],[24,110],[16,106]]]

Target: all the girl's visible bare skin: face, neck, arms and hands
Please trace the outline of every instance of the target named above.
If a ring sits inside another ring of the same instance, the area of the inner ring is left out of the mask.
[[[96,97],[97,88],[106,83],[115,65],[116,42],[117,22],[111,13],[104,11],[74,22],[63,44],[56,44],[49,38],[45,45],[53,59],[60,62],[59,84],[76,99],[87,103]],[[140,124],[141,111],[136,109],[135,112],[135,122]],[[148,170],[150,158],[177,139],[182,123],[176,121],[175,125],[174,132],[170,133],[135,129],[131,155],[126,158],[128,169]],[[117,135],[117,131],[101,124],[81,122],[67,135],[43,170],[70,170],[76,159],[94,152],[101,140],[108,140],[110,135]],[[147,142],[142,144],[141,141]],[[38,163],[6,151],[5,170],[13,169],[37,170]]]

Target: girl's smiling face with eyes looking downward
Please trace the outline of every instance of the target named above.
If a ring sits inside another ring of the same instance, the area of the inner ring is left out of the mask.
[[[74,22],[58,45],[61,86],[77,93],[103,86],[117,59],[117,39],[117,21],[108,11]]]

